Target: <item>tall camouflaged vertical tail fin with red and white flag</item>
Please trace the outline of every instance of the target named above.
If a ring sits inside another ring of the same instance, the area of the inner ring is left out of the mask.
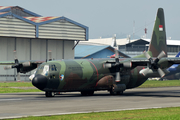
[[[157,11],[156,21],[154,24],[148,52],[152,54],[152,57],[157,57],[161,51],[164,51],[167,56],[164,10],[159,8]]]

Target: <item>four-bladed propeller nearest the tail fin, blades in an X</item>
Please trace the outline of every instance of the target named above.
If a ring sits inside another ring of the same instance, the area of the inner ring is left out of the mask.
[[[161,77],[164,77],[165,72],[159,67],[158,62],[161,58],[166,57],[166,53],[162,51],[155,59],[153,59],[147,52],[144,52],[145,57],[149,60],[148,68],[140,71],[141,74],[146,76],[149,71],[157,70]]]

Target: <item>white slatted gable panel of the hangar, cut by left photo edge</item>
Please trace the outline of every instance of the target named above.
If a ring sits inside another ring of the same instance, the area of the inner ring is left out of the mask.
[[[35,25],[12,16],[1,17],[0,36],[35,38]]]

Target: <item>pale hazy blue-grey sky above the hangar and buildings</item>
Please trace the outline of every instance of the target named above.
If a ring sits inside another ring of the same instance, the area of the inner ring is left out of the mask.
[[[42,16],[65,16],[89,28],[89,39],[151,38],[158,8],[165,13],[166,36],[180,40],[179,0],[0,0],[0,6],[20,6]],[[134,37],[133,37],[134,31]]]

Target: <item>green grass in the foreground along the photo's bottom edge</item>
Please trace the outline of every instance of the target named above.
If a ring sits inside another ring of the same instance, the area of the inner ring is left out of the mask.
[[[27,117],[13,120],[180,120],[180,107]]]

